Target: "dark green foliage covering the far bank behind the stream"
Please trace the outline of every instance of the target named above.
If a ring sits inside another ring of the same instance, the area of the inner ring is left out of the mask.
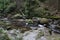
[[[51,17],[51,13],[49,12],[48,8],[45,8],[41,5],[45,1],[46,0],[23,0],[23,2],[21,3],[22,8],[20,8],[19,10],[15,10],[17,9],[16,1],[0,0],[0,16],[5,17],[10,13],[11,15],[21,14],[22,16],[25,16],[27,18],[32,18],[32,17],[49,18]]]

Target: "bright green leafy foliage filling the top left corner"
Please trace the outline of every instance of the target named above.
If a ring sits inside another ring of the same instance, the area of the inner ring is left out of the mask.
[[[0,0],[0,16],[7,15],[16,7],[16,3],[12,0]]]

